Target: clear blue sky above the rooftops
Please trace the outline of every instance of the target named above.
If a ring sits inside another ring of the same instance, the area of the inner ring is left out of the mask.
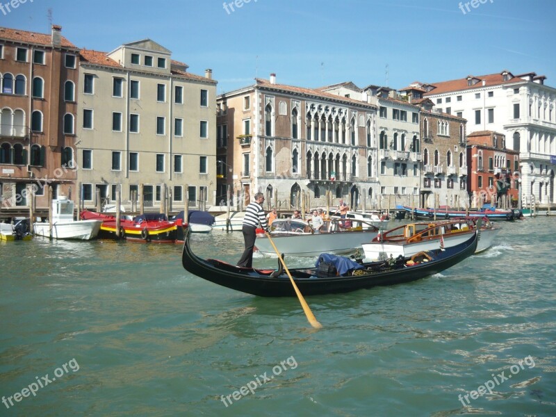
[[[271,72],[309,88],[386,85],[386,65],[392,88],[505,69],[556,87],[556,0],[476,1],[250,0],[231,11],[223,0],[27,0],[0,26],[47,33],[50,8],[78,47],[151,38],[190,72],[212,68],[218,93]]]

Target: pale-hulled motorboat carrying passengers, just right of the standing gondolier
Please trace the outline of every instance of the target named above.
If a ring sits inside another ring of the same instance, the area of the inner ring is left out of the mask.
[[[320,233],[309,222],[297,219],[276,219],[270,235],[281,254],[291,256],[318,256],[323,252],[350,254],[362,243],[370,242],[379,229],[363,220],[325,219]],[[275,254],[268,237],[257,234],[256,249],[262,254]]]

